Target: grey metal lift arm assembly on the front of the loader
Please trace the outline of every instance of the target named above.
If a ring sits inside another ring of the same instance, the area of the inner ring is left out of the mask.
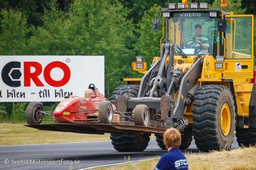
[[[149,126],[184,129],[188,125],[187,119],[183,117],[184,110],[199,88],[199,83],[195,81],[202,71],[202,65],[203,59],[198,57],[185,75],[180,69],[174,70],[174,44],[162,44],[160,59],[142,78],[138,97],[119,96],[117,110],[126,112],[127,109],[133,110],[137,105],[146,105],[150,110],[151,125]],[[174,94],[178,89],[180,89],[178,98],[174,101]],[[161,119],[156,121],[154,117],[158,113],[161,113]]]

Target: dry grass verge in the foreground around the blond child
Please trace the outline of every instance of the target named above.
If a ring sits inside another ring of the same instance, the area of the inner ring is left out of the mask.
[[[249,170],[256,169],[255,156],[256,147],[240,148],[232,151],[211,152],[208,155],[185,154],[188,167],[194,169],[232,169]],[[130,170],[130,169],[154,169],[158,159],[146,160],[138,163],[127,163],[123,165],[100,167],[97,170]]]

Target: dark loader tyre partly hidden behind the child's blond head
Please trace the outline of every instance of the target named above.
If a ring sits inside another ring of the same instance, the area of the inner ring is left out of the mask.
[[[163,142],[163,135],[162,134],[155,134],[156,136],[156,141],[157,145],[159,148],[166,150],[165,144]],[[180,149],[181,150],[186,150],[189,145],[191,144],[191,141],[193,139],[192,137],[192,130],[191,129],[185,129],[184,131],[181,131],[181,144],[180,144]]]

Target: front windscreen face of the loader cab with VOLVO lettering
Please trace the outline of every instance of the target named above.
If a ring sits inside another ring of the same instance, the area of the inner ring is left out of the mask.
[[[162,14],[166,18],[165,36],[168,42],[178,45],[186,55],[217,55],[220,10],[163,9]],[[204,44],[204,48],[197,40]],[[175,54],[180,55],[180,52],[175,50]]]

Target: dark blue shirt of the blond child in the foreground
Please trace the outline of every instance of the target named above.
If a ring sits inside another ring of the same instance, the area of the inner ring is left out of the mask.
[[[167,154],[161,156],[155,170],[165,169],[188,169],[187,160],[178,148],[173,148]]]

